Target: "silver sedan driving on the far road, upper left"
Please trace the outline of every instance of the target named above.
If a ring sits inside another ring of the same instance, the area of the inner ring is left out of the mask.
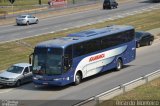
[[[32,15],[20,15],[16,18],[17,25],[38,24],[39,19]]]

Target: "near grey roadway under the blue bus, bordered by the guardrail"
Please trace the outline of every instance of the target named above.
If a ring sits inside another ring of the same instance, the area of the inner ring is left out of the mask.
[[[35,87],[29,83],[17,88],[1,88],[0,100],[27,100],[21,102],[32,106],[70,106],[160,69],[159,47],[158,41],[152,46],[138,48],[136,60],[121,71],[113,70],[87,78],[80,85]]]

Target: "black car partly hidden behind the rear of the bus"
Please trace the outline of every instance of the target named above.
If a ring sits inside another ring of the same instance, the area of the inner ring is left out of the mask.
[[[154,36],[149,32],[136,31],[135,32],[136,47],[139,48],[145,45],[152,45]]]

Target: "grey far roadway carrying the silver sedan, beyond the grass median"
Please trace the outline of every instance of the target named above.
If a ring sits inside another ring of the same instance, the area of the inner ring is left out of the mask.
[[[144,1],[145,0],[134,0],[132,2],[123,3],[120,4],[117,9],[112,10],[102,10],[99,8],[63,16],[50,17],[40,20],[39,24],[30,26],[16,26],[15,24],[0,26],[0,43],[87,25],[88,23],[112,18],[113,16],[121,15],[123,13],[132,13],[157,5],[156,3],[147,3]]]

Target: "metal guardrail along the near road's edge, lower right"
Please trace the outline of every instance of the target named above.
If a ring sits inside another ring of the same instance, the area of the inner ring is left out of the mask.
[[[127,91],[132,90],[135,87],[138,87],[142,84],[146,84],[149,81],[156,79],[160,77],[160,69],[157,71],[154,71],[150,74],[144,75],[140,78],[137,78],[135,80],[132,80],[128,83],[119,85],[113,89],[110,89],[106,92],[103,92],[97,96],[91,97],[87,100],[84,100],[78,104],[75,104],[74,106],[98,106],[101,102],[103,102],[103,100],[109,100],[115,96],[118,96],[120,94],[123,94]]]

